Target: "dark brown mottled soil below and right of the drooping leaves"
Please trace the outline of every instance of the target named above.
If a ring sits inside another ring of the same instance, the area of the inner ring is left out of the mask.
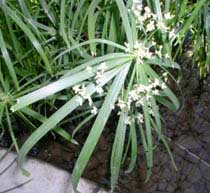
[[[188,69],[188,70],[186,70]],[[154,152],[153,175],[145,183],[146,165],[141,143],[138,162],[134,171],[125,173],[122,168],[116,192],[119,193],[210,193],[210,75],[200,81],[198,69],[183,68],[184,80],[180,82],[183,91],[183,105],[179,112],[162,109],[164,133],[170,139],[170,147],[178,168],[176,171],[165,151],[158,146]],[[97,148],[88,163],[84,177],[109,187],[110,150],[116,128],[115,118],[109,121]],[[73,126],[66,129],[72,131]],[[90,125],[77,135],[80,145],[66,143],[53,135],[36,145],[31,155],[46,162],[72,171],[82,144],[88,135]],[[21,134],[24,141],[27,134]],[[9,141],[0,142],[7,146]],[[129,162],[129,160],[127,160]]]

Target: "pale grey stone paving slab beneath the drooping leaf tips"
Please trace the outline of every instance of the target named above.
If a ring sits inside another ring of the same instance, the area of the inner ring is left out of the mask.
[[[0,160],[6,152],[0,149]],[[9,153],[0,161],[0,193],[13,187],[17,187],[26,181],[30,182],[14,190],[6,191],[9,193],[74,193],[71,184],[71,176],[67,171],[56,168],[48,163],[28,158],[24,163],[24,168],[30,172],[26,177],[17,167],[17,154]],[[11,163],[8,170],[2,173]],[[108,193],[100,189],[96,184],[86,179],[81,179],[78,185],[81,193]],[[6,193],[5,192],[5,193]]]

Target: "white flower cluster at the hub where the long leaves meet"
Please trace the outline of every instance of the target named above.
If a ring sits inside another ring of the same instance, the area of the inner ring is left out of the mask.
[[[153,53],[150,52],[150,48],[146,47],[142,42],[136,41],[134,48],[132,49],[128,43],[125,43],[126,51],[133,54],[136,57],[138,63],[142,64],[143,59],[151,58]]]

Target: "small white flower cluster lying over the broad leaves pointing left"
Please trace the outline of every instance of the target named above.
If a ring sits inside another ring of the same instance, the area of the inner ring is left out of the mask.
[[[96,115],[98,112],[98,109],[94,106],[93,101],[88,94],[87,88],[85,87],[85,84],[82,85],[75,85],[73,88],[73,91],[75,94],[78,94],[77,102],[80,106],[82,106],[84,100],[88,100],[89,106],[92,107],[91,113]]]

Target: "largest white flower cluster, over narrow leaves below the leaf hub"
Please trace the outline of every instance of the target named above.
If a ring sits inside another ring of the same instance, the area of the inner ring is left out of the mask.
[[[166,88],[166,84],[161,82],[159,79],[155,79],[153,82],[150,81],[148,85],[136,84],[133,87],[133,90],[129,92],[128,100],[125,102],[122,99],[118,99],[117,106],[121,111],[129,114],[131,106],[134,105],[137,108],[141,108],[147,102],[148,110],[151,116],[154,116],[152,110],[151,98],[152,96],[157,96],[160,93],[160,90]],[[120,114],[121,112],[119,112]],[[141,113],[136,115],[136,119],[139,123],[144,122],[144,116]],[[130,124],[130,117],[127,115],[126,124]]]

